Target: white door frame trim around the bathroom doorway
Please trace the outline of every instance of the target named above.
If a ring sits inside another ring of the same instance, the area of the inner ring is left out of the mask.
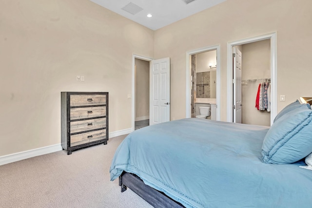
[[[186,118],[192,116],[191,111],[191,56],[198,53],[216,50],[216,112],[215,119],[221,118],[221,50],[220,44],[186,52]]]

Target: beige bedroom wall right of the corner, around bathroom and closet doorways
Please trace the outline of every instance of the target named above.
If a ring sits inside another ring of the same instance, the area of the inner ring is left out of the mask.
[[[286,96],[285,102],[278,98],[277,111],[300,95],[311,95],[309,85],[302,84],[312,77],[310,8],[311,0],[227,0],[156,30],[154,57],[171,58],[171,118],[185,117],[187,51],[220,44],[219,107],[226,121],[227,43],[272,32],[277,33],[277,96]]]

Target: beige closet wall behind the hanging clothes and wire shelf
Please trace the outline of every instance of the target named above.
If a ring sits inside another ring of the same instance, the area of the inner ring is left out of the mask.
[[[242,79],[271,78],[270,39],[242,45]],[[242,84],[242,123],[262,126],[271,125],[271,113],[255,108],[259,81]]]

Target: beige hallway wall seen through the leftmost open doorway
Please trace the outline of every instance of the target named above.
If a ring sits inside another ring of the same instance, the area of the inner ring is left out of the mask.
[[[150,62],[136,58],[136,121],[149,118],[150,109]]]

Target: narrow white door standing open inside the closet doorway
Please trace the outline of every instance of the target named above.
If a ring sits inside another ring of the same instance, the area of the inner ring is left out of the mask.
[[[233,122],[242,122],[242,52],[233,47]]]

